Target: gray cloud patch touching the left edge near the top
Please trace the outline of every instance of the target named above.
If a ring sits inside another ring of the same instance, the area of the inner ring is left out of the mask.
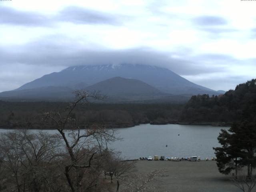
[[[25,12],[13,8],[0,6],[0,23],[24,26],[49,25],[50,20],[35,12]]]

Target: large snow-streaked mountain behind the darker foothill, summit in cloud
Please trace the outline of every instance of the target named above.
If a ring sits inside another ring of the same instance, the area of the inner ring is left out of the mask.
[[[24,84],[17,90],[48,86],[70,86],[81,82],[90,86],[117,76],[143,81],[169,94],[219,94],[214,90],[194,84],[167,68],[142,64],[73,66],[60,72],[44,75]]]

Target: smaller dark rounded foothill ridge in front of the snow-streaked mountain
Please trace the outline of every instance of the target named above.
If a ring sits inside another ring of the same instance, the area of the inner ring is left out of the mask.
[[[140,80],[121,77],[110,78],[92,86],[84,86],[86,84],[79,83],[68,87],[47,86],[13,90],[0,93],[0,99],[16,101],[68,101],[74,98],[72,92],[76,88],[85,88],[88,92],[100,91],[100,94],[106,96],[104,102],[186,102],[189,99],[188,96],[166,94]]]

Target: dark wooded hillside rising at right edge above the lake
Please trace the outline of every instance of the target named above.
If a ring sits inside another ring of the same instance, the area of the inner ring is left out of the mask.
[[[255,79],[239,84],[235,90],[229,90],[224,95],[192,96],[180,117],[180,121],[190,123],[231,123],[241,120],[256,121]]]

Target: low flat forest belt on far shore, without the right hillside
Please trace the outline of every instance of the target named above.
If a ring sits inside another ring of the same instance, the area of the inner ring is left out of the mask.
[[[0,127],[42,128],[40,114],[60,112],[65,114],[66,102],[6,102],[0,101]],[[182,104],[99,104],[84,103],[72,112],[81,126],[92,124],[107,128],[130,127],[138,124],[167,124],[177,122]],[[43,127],[54,128],[54,127]]]

